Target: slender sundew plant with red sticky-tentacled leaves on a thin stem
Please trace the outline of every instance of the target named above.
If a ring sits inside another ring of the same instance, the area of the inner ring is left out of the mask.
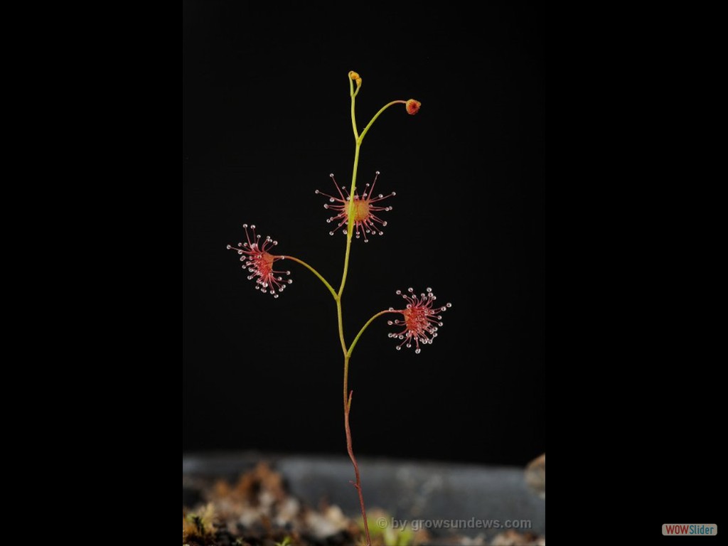
[[[395,331],[389,333],[389,338],[395,339],[395,348],[397,350],[402,349],[402,347],[407,349],[414,348],[414,352],[419,353],[422,351],[422,347],[432,344],[432,341],[438,336],[438,329],[443,325],[441,313],[445,312],[451,304],[435,304],[437,298],[435,297],[435,293],[432,292],[432,288],[427,288],[424,292],[420,293],[416,292],[414,288],[408,288],[405,292],[397,290],[397,296],[401,296],[404,300],[404,304],[400,303],[400,305],[404,306],[400,309],[389,307],[389,309],[376,312],[364,323],[356,336],[347,344],[347,338],[344,336],[344,315],[341,302],[344,296],[344,288],[347,285],[352,240],[357,239],[368,242],[368,236],[375,237],[376,235],[383,234],[382,228],[387,226],[387,221],[381,218],[381,215],[392,210],[392,206],[389,205],[389,199],[395,197],[394,191],[387,195],[376,193],[379,171],[377,171],[371,184],[365,184],[361,193],[357,190],[357,170],[361,146],[364,137],[374,122],[376,122],[387,108],[395,106],[395,104],[403,104],[407,114],[414,116],[421,106],[414,99],[392,100],[391,103],[382,106],[360,132],[357,128],[355,106],[357,95],[361,90],[362,79],[359,74],[353,71],[349,72],[348,79],[349,95],[352,98],[351,116],[355,143],[351,186],[349,189],[346,186],[339,186],[339,183],[336,182],[332,174],[333,191],[331,193],[324,193],[323,191],[316,190],[316,194],[326,199],[326,203],[323,205],[324,208],[332,213],[331,217],[326,220],[328,223],[333,224],[329,234],[334,235],[336,232],[342,232],[346,236],[344,267],[341,272],[339,288],[333,288],[331,282],[328,282],[322,274],[300,258],[277,253],[278,242],[268,236],[261,237],[256,231],[256,226],[248,226],[248,224],[244,223],[242,227],[245,230],[245,241],[239,242],[237,245],[228,245],[227,248],[237,251],[240,255],[240,261],[242,261],[242,268],[248,272],[248,279],[254,280],[256,282],[256,289],[262,293],[271,294],[274,298],[278,298],[293,282],[289,278],[290,271],[282,267],[285,261],[293,261],[296,264],[304,266],[316,275],[329,293],[331,293],[331,297],[336,304],[336,319],[339,323],[339,342],[341,343],[341,352],[344,357],[344,429],[347,433],[347,452],[354,466],[354,486],[359,494],[359,504],[366,541],[368,545],[371,545],[359,465],[357,464],[357,459],[354,456],[354,450],[352,448],[352,430],[349,424],[349,412],[352,409],[352,395],[354,393],[354,391],[349,390],[349,362],[352,359],[354,348],[368,326],[379,317],[389,314],[395,315],[395,317],[387,321],[388,325],[395,326]]]

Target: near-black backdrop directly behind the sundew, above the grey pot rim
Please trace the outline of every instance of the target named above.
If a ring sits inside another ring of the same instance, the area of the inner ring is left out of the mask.
[[[381,171],[397,191],[384,237],[355,240],[347,340],[395,290],[452,309],[435,343],[395,351],[379,320],[352,357],[352,430],[365,456],[525,464],[545,451],[545,29],[541,3],[479,15],[403,6],[350,15],[183,10],[183,452],[345,454],[335,306],[309,272],[276,300],[227,244],[242,223],[338,286],[345,237],[315,189]],[[284,262],[285,263],[285,262]]]

